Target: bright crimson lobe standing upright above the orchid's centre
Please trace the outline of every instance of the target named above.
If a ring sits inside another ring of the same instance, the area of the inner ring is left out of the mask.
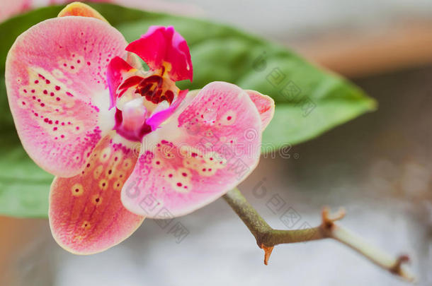
[[[192,81],[193,69],[188,44],[173,27],[151,26],[126,50],[137,54],[150,69],[165,68],[172,81]]]

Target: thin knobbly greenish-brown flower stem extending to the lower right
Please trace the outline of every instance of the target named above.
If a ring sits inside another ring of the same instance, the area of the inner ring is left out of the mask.
[[[238,189],[233,189],[223,196],[224,200],[231,206],[239,218],[243,220],[246,227],[249,228],[256,239],[256,244],[264,250],[264,263],[267,265],[273,247],[277,244],[290,244],[295,242],[309,242],[318,239],[335,239],[354,249],[359,254],[365,256],[377,266],[390,271],[394,275],[414,282],[415,278],[403,263],[409,261],[406,255],[394,258],[384,251],[371,246],[368,242],[356,234],[346,230],[340,225],[336,225],[337,220],[341,220],[345,215],[343,210],[339,210],[334,215],[329,214],[329,209],[322,210],[322,223],[317,227],[311,227],[302,230],[273,230],[268,223],[261,218],[254,207],[252,207],[246,198]]]

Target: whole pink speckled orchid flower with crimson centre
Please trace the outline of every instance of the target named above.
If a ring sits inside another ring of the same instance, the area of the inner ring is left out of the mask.
[[[64,249],[108,249],[144,217],[191,213],[256,167],[273,100],[223,82],[179,90],[192,74],[174,28],[153,26],[127,44],[84,4],[17,38],[8,101],[28,155],[56,176],[49,219]]]

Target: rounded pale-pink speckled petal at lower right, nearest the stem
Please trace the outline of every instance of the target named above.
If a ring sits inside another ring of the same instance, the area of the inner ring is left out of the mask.
[[[249,95],[237,85],[210,83],[144,136],[123,205],[150,218],[191,213],[243,181],[260,147],[261,119]]]

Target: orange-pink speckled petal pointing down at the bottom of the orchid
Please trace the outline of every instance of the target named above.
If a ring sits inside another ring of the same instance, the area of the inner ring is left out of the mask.
[[[112,132],[98,143],[81,174],[52,182],[50,227],[67,251],[104,251],[123,242],[144,220],[120,201],[120,191],[137,161],[131,144]]]

